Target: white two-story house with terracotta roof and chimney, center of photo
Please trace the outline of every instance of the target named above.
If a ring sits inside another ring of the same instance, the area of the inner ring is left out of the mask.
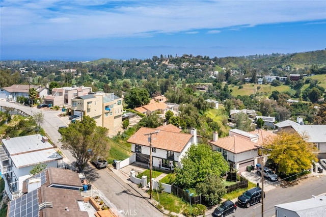
[[[158,131],[159,130],[159,131]],[[182,133],[172,124],[157,128],[140,128],[129,139],[131,151],[136,153],[136,161],[149,164],[150,143],[147,133],[158,131],[152,134],[152,159],[153,167],[173,169],[175,162],[177,167],[181,167],[181,158],[192,144],[198,142],[197,130],[192,129],[191,134]],[[171,167],[171,168],[170,168]]]

